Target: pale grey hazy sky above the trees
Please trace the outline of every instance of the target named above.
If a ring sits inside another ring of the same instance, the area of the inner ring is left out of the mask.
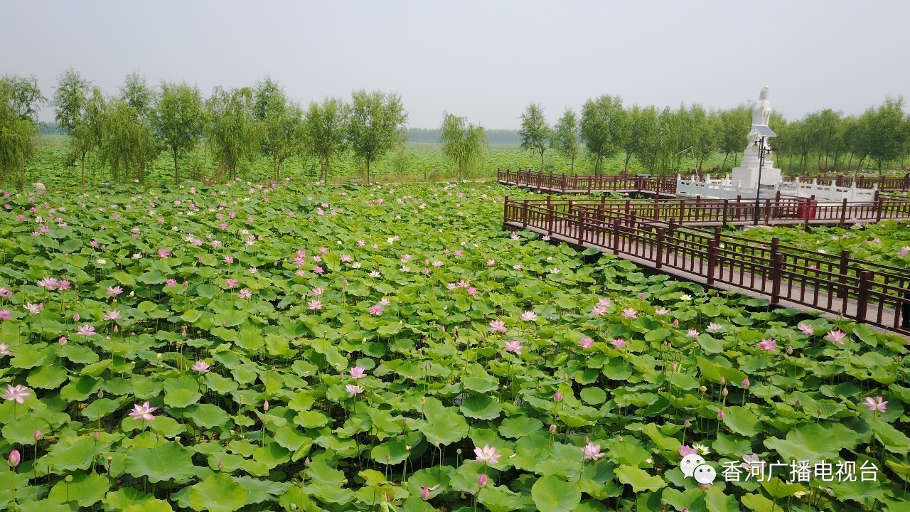
[[[906,0],[0,0],[0,74],[35,75],[47,97],[68,66],[108,94],[134,69],[204,95],[268,74],[304,105],[397,92],[417,128],[443,111],[517,128],[532,101],[552,124],[601,94],[726,108],[767,85],[801,118],[910,99],[908,20]]]

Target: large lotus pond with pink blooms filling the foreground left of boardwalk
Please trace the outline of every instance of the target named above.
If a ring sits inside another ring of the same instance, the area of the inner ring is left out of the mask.
[[[504,194],[7,192],[0,507],[906,510],[904,339],[502,231]]]

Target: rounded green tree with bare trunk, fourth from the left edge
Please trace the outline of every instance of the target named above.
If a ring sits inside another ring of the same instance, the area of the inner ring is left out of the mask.
[[[154,127],[161,140],[174,157],[174,183],[180,183],[177,157],[196,147],[202,136],[202,96],[197,87],[186,82],[161,83],[161,94],[156,98]]]

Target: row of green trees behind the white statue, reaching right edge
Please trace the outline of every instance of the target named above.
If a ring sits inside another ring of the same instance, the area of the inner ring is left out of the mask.
[[[787,122],[773,114],[775,165],[801,173],[864,165],[881,173],[889,166],[904,167],[910,155],[910,117],[903,107],[902,97],[888,97],[860,116],[829,108]],[[672,172],[680,169],[682,159],[690,158],[703,170],[705,160],[717,151],[723,153],[720,169],[731,169],[748,145],[751,122],[751,109],[745,105],[711,111],[698,104],[625,108],[621,97],[605,95],[588,99],[581,116],[567,108],[553,126],[541,106],[532,103],[521,115],[519,136],[521,148],[540,155],[541,170],[546,151],[553,149],[571,159],[574,171],[582,148],[593,161],[595,174],[604,171],[605,159],[616,155],[624,159],[622,170],[636,159],[652,173]]]

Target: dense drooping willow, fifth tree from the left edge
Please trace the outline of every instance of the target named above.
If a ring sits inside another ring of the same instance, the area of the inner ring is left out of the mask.
[[[212,89],[206,101],[208,150],[228,179],[259,151],[259,132],[253,115],[253,91],[249,87]]]

